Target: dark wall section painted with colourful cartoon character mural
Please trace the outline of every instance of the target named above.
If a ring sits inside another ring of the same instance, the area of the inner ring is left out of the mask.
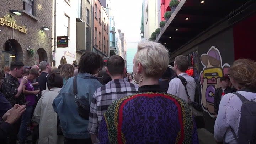
[[[205,111],[206,129],[214,131],[214,93],[220,77],[234,61],[233,29],[230,28],[198,45],[201,105]]]

